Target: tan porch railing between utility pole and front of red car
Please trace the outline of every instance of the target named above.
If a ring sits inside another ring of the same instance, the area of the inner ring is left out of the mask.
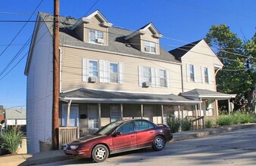
[[[58,131],[58,149],[63,149],[67,143],[80,137],[79,127],[60,127]]]

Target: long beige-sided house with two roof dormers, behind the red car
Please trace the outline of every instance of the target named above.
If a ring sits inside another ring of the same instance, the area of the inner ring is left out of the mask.
[[[29,153],[52,138],[52,21],[51,14],[38,14],[25,69]],[[112,26],[100,11],[80,20],[61,17],[59,125],[88,132],[126,118],[159,124],[183,110],[195,115],[201,100],[179,96],[183,63],[161,48],[161,37],[153,23],[133,32]]]

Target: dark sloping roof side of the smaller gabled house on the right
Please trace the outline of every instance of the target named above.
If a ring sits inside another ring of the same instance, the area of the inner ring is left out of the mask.
[[[201,42],[201,40],[189,43],[188,45],[183,45],[180,48],[176,48],[172,51],[169,51],[169,53],[172,54],[176,58],[176,60],[181,61],[181,57],[183,57],[187,52],[189,52],[193,47],[195,47],[195,45],[197,45],[198,42]]]

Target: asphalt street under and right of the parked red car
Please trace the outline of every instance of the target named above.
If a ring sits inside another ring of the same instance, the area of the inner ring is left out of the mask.
[[[256,165],[256,128],[167,143],[164,150],[141,149],[111,155],[103,163],[72,159],[41,165]]]

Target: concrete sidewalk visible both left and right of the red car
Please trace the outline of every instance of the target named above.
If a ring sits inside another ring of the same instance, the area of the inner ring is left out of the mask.
[[[253,128],[256,124],[237,124],[232,126],[226,126],[223,128],[204,128],[196,131],[183,131],[180,133],[173,134],[173,140],[171,142],[179,140],[188,140],[195,137],[204,137],[211,134],[218,134],[228,131],[235,131],[243,128]],[[54,150],[49,152],[39,152],[33,155],[10,155],[0,157],[0,166],[14,166],[14,165],[33,165],[33,164],[44,164],[55,161],[63,161],[69,159],[65,156],[61,150]]]

